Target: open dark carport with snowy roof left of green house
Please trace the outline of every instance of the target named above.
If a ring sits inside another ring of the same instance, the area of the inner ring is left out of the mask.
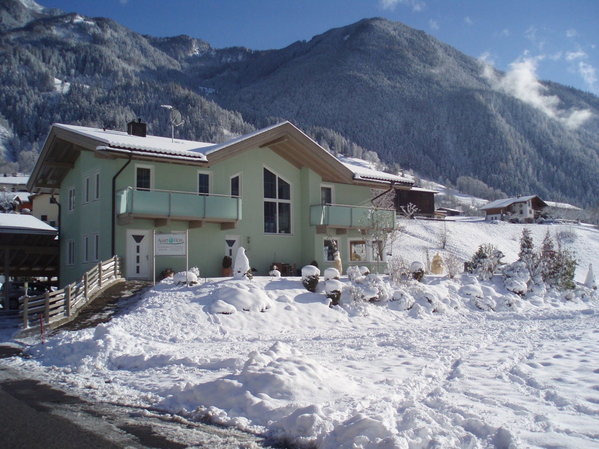
[[[0,214],[0,273],[5,280],[58,277],[58,256],[58,230],[31,215]],[[0,301],[7,311],[8,298]]]

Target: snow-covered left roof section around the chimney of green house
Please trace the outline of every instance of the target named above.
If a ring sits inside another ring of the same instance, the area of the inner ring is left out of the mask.
[[[62,125],[55,123],[56,128],[65,129],[85,137],[97,140],[107,145],[108,148],[138,150],[143,153],[167,154],[169,156],[183,156],[194,160],[207,160],[205,151],[216,145],[205,142],[171,139],[158,136],[134,136],[123,131],[87,128],[85,126]],[[107,149],[107,148],[101,148]]]

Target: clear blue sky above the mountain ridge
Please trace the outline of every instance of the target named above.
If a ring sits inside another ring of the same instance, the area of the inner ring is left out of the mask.
[[[599,95],[599,0],[41,0],[111,17],[142,34],[187,34],[213,47],[283,48],[386,17],[496,68]]]

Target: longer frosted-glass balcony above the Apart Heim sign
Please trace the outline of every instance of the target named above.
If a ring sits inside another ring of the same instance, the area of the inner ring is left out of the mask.
[[[119,225],[143,219],[165,226],[173,220],[189,222],[190,228],[220,223],[222,229],[235,229],[241,220],[241,198],[127,187],[116,193],[116,216]]]

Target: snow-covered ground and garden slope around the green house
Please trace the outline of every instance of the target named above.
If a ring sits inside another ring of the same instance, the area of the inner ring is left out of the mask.
[[[394,254],[422,260],[427,247],[432,259],[443,223],[404,225]],[[445,226],[447,247],[464,258],[490,242],[506,262],[516,259],[522,225]],[[530,228],[539,244],[546,229],[568,231],[567,246],[584,261],[579,281],[599,260],[597,229]],[[293,445],[599,447],[596,292],[521,299],[498,275],[426,275],[379,284],[394,301],[352,301],[365,291],[358,280],[341,277],[336,307],[323,280],[316,293],[299,278],[167,280],[129,313],[57,333],[32,344],[31,359],[6,362],[93,401],[207,418]]]

